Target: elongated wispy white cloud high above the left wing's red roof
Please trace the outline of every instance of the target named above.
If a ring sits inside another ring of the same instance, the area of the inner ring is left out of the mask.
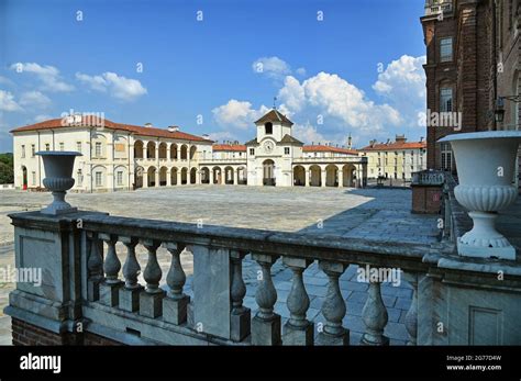
[[[99,76],[77,72],[76,78],[91,90],[109,92],[111,97],[121,101],[133,101],[147,93],[146,88],[137,79],[118,76],[111,71]]]

